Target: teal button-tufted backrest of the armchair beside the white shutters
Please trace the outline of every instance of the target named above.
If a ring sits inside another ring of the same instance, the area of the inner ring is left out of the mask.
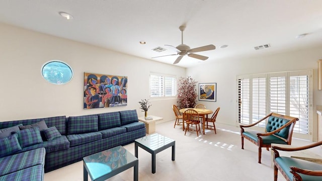
[[[280,127],[284,126],[289,121],[290,120],[287,120],[287,119],[283,119],[283,118],[279,118],[279,117],[275,117],[275,116],[270,116],[268,118],[268,123],[266,125],[266,131],[267,132],[275,131],[275,130],[279,129]],[[274,134],[287,139],[290,126],[291,125],[288,125],[287,127],[282,129],[281,131],[276,132]]]

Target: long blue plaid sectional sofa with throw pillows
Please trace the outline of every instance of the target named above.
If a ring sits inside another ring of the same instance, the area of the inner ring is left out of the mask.
[[[143,136],[136,110],[0,122],[0,180],[43,180],[44,172]]]

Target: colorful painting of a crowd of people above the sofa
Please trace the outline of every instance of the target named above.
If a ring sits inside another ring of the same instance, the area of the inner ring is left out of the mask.
[[[84,73],[84,109],[126,105],[126,76]]]

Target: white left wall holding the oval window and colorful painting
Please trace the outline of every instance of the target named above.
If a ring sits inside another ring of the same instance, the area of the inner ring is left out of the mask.
[[[63,85],[47,82],[42,65],[50,60],[69,64],[72,80]],[[0,24],[0,121],[78,116],[136,109],[138,101],[149,99],[149,73],[185,76],[185,68],[109,51],[100,47]],[[84,72],[128,76],[128,106],[83,109]],[[174,119],[177,99],[151,100],[148,114]]]

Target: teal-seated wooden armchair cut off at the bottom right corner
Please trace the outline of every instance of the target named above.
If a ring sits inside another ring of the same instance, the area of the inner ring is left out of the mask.
[[[274,162],[274,181],[277,181],[278,170],[288,181],[322,180],[322,164],[314,163],[293,157],[280,156],[281,151],[299,151],[322,145],[322,141],[300,147],[283,148],[272,146]]]

